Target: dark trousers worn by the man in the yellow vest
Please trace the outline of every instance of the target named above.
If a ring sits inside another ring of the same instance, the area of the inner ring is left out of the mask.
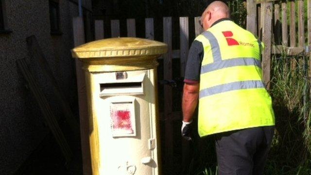
[[[263,175],[274,126],[215,135],[219,175]]]

